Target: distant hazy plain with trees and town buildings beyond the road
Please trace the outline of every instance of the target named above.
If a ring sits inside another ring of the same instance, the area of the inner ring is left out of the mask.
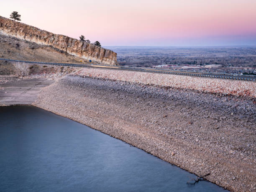
[[[108,48],[123,66],[256,75],[256,46]]]

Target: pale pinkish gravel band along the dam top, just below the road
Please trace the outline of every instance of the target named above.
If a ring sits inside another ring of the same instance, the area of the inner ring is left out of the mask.
[[[82,68],[76,74],[82,77],[94,77],[147,85],[154,84],[164,87],[198,90],[210,93],[256,97],[256,82],[93,68]]]

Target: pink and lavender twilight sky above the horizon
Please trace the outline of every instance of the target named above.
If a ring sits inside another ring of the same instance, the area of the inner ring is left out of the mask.
[[[256,0],[0,0],[0,15],[102,46],[256,45]]]

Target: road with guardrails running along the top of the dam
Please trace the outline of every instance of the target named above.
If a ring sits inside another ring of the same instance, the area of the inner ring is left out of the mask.
[[[35,62],[35,61],[19,61],[13,59],[0,59],[5,61],[15,61],[32,64],[51,64],[59,66],[70,66],[70,67],[92,67],[92,68],[107,68],[116,70],[128,70],[128,71],[139,71],[139,72],[151,72],[151,73],[164,73],[164,74],[178,74],[188,75],[192,77],[208,77],[208,78],[219,78],[219,79],[234,79],[234,80],[246,80],[255,81],[256,77],[253,75],[237,75],[237,74],[224,74],[224,73],[206,73],[206,72],[191,72],[191,71],[178,71],[170,69],[152,69],[152,68],[140,68],[140,67],[123,67],[123,66],[112,66],[112,65],[98,65],[98,64],[69,64],[69,63],[46,63],[46,62]]]

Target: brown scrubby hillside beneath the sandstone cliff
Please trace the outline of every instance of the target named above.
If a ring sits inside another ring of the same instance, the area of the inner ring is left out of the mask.
[[[30,41],[0,34],[0,58],[24,61],[86,63],[77,56],[73,56],[52,46],[40,45]],[[15,68],[9,61],[0,61],[0,75],[14,74]]]

